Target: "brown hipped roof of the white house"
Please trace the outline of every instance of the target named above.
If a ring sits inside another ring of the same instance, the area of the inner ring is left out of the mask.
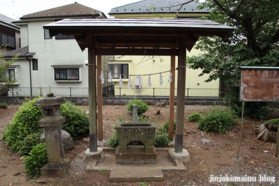
[[[59,6],[48,10],[43,10],[37,13],[31,13],[20,17],[20,19],[38,18],[38,17],[79,17],[84,15],[96,15],[103,14],[100,10],[84,6],[80,3],[71,3],[65,6]]]

